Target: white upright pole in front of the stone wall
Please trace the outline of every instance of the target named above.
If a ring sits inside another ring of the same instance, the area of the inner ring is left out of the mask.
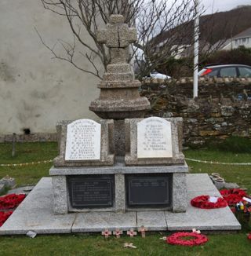
[[[199,0],[194,0],[195,3],[195,45],[194,45],[194,98],[198,97],[198,35],[199,35]]]

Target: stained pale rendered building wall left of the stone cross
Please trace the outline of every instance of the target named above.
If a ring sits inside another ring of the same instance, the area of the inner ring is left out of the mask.
[[[42,45],[72,42],[67,21],[45,10],[40,0],[0,3],[0,134],[54,133],[62,119],[97,119],[89,103],[99,95],[98,79],[53,59]],[[91,42],[86,35],[85,40]],[[81,50],[80,46],[78,49]],[[58,53],[63,50],[56,46]],[[79,55],[84,68],[89,63]]]

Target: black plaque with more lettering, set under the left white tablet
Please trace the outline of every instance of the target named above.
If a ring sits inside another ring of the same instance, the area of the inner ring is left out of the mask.
[[[93,208],[113,206],[114,176],[74,176],[68,177],[67,183],[72,207]]]

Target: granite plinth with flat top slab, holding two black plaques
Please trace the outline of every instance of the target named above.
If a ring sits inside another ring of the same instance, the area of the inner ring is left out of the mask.
[[[187,172],[186,163],[176,166],[126,166],[122,157],[117,157],[113,166],[53,166],[49,174],[53,177],[54,212],[147,209],[184,212],[187,209]],[[80,182],[75,186],[75,196],[82,198],[82,203],[77,205],[71,198],[74,193],[72,185],[69,186],[71,181]],[[79,186],[82,186],[82,192],[88,192],[87,197],[79,192]],[[144,193],[147,190],[151,196]],[[159,197],[160,194],[162,196]],[[103,200],[103,205],[97,203],[98,199]],[[86,203],[88,200],[91,201],[89,205]]]

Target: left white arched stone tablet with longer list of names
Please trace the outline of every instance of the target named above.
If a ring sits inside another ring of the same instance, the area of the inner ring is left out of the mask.
[[[101,125],[79,119],[67,125],[65,160],[100,160]]]

